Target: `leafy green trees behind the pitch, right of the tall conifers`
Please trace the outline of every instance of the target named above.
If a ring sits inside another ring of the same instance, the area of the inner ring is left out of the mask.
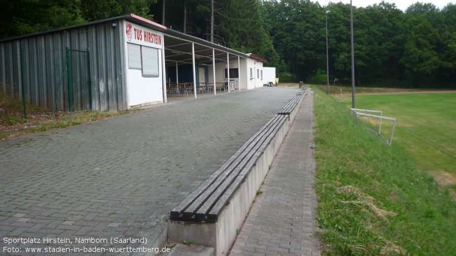
[[[273,0],[263,6],[269,18],[265,28],[288,65],[280,72],[311,81],[326,70],[328,17],[330,80],[351,83],[349,4],[330,2],[323,8],[310,1]],[[415,3],[405,13],[383,1],[353,7],[356,85],[456,88],[455,17],[454,4],[439,10]]]

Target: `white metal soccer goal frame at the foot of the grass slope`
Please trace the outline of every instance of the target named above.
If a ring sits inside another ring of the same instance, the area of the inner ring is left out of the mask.
[[[374,132],[381,139],[383,139],[383,141],[387,145],[391,145],[391,143],[393,142],[396,118],[383,117],[382,111],[369,109],[350,108],[350,112],[354,117],[355,124],[358,124],[361,127]],[[374,113],[375,115],[373,115],[372,113]]]

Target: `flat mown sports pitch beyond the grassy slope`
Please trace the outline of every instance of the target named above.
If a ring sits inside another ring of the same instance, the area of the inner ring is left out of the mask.
[[[351,106],[351,95],[336,97]],[[355,103],[396,118],[393,143],[440,186],[456,190],[456,93],[358,95]]]

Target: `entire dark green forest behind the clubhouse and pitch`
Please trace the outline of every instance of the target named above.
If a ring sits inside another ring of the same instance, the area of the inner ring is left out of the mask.
[[[327,11],[330,11],[328,14]],[[295,81],[351,83],[350,5],[309,0],[15,0],[0,2],[0,39],[134,13],[244,53]],[[357,86],[456,89],[456,5],[353,6]]]

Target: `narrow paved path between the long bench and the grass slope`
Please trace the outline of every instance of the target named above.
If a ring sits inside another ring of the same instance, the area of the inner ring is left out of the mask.
[[[313,235],[317,226],[311,94],[305,96],[230,256],[320,255]]]

